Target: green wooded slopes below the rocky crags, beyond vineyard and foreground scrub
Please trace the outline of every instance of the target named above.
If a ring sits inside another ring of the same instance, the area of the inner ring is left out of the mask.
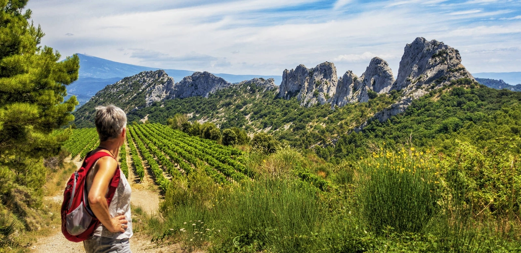
[[[181,113],[192,115],[192,122],[213,122],[221,130],[263,130],[292,147],[312,147],[319,156],[334,163],[365,155],[370,143],[410,143],[453,151],[454,139],[485,148],[496,143],[497,138],[519,136],[521,93],[494,90],[469,80],[431,91],[387,122],[372,121],[362,131],[353,131],[393,103],[398,94],[382,94],[367,103],[348,104],[335,110],[327,104],[308,109],[299,106],[295,99],[277,99],[274,91],[239,86],[220,90],[209,98],[169,100],[132,111],[128,116],[129,122],[146,116],[151,123],[167,124],[168,118]]]

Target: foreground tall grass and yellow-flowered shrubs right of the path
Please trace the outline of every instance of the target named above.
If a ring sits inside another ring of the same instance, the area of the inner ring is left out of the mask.
[[[321,161],[291,149],[250,153],[245,163],[255,168],[257,176],[240,184],[218,185],[201,171],[176,179],[166,192],[162,217],[143,222],[145,230],[156,239],[182,242],[187,251],[515,252],[521,248],[518,198],[508,199],[513,204],[504,211],[504,219],[498,212],[479,213],[485,207],[474,205],[476,195],[469,191],[477,190],[469,187],[468,174],[455,165],[448,170],[454,161],[439,154],[414,149],[375,153],[332,167],[326,178],[316,173],[324,166]],[[318,187],[318,179],[327,187]]]

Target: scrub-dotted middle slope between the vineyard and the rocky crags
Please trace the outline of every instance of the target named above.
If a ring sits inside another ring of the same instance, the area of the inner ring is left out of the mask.
[[[167,100],[128,113],[129,122],[147,117],[151,123],[167,124],[174,115],[190,114],[190,121],[209,121],[226,129],[239,127],[253,134],[266,131],[291,146],[309,148],[330,143],[361,125],[376,112],[398,99],[399,93],[382,94],[367,103],[348,104],[331,110],[331,105],[301,107],[296,98],[276,98],[254,83],[222,89],[208,98],[191,97]]]

